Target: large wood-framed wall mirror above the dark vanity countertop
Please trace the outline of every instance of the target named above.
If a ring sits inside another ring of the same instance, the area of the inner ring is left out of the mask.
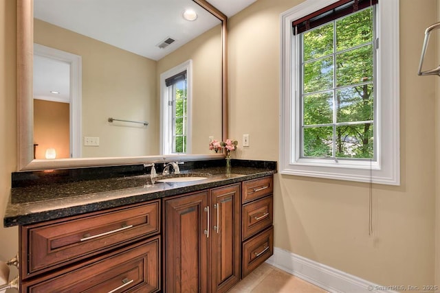
[[[227,131],[227,18],[208,1],[17,2],[19,170],[221,156],[208,143]],[[188,62],[190,149],[164,153],[161,79]]]

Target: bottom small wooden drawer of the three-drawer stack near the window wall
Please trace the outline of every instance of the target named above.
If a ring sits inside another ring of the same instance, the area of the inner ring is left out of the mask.
[[[246,277],[252,270],[260,266],[263,261],[274,253],[274,226],[267,228],[243,242],[243,273]]]

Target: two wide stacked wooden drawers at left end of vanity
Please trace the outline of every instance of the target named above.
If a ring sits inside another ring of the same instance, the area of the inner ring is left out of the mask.
[[[156,292],[159,232],[159,200],[21,226],[21,288]]]

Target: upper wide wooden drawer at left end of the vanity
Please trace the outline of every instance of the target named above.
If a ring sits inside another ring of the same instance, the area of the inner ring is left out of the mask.
[[[22,279],[159,233],[159,200],[23,226]],[[26,250],[26,246],[28,250]]]

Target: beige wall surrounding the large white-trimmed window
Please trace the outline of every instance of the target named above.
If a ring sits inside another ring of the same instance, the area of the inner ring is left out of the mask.
[[[230,136],[241,159],[278,160],[280,14],[301,0],[259,0],[229,22]],[[382,285],[434,282],[434,78],[417,76],[434,0],[401,0],[401,186],[276,175],[274,244]],[[434,62],[430,53],[428,60]],[[439,284],[440,285],[440,284]]]

